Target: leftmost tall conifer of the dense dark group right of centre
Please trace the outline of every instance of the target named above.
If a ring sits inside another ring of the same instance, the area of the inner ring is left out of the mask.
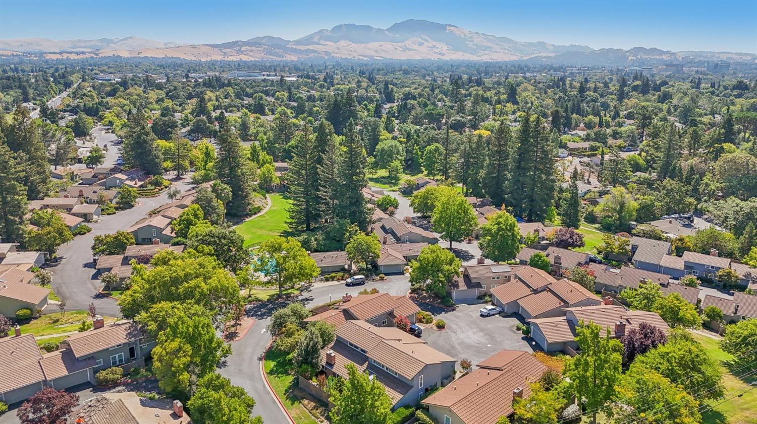
[[[489,149],[484,164],[484,187],[494,206],[505,203],[509,180],[510,149],[512,135],[509,122],[500,121],[494,135],[488,138]]]

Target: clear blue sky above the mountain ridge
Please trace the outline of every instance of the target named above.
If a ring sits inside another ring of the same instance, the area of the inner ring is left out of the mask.
[[[757,0],[569,2],[2,0],[0,39],[140,36],[182,43],[297,39],[339,23],[451,23],[519,41],[757,53]]]

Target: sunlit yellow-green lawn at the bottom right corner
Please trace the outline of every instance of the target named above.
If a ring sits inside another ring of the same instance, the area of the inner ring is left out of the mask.
[[[745,380],[738,379],[729,370],[727,361],[731,361],[731,354],[724,352],[718,345],[718,340],[711,337],[702,336],[693,333],[692,336],[696,341],[702,343],[707,354],[721,364],[723,371],[723,385],[725,386],[725,398],[731,398],[749,388],[749,383],[757,381],[757,376],[750,376]],[[746,370],[739,370],[744,364],[736,364],[737,374],[744,373]],[[752,390],[744,393],[740,398],[733,398],[719,404],[722,400],[711,401],[715,407],[702,413],[702,422],[704,424],[754,424],[757,422],[757,391]],[[719,404],[719,405],[718,405]]]

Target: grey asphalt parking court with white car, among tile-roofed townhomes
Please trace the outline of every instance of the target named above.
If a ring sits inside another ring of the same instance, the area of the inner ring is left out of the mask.
[[[455,311],[429,309],[436,319],[447,323],[447,329],[437,331],[428,327],[423,331],[422,339],[458,361],[469,359],[473,365],[502,349],[533,351],[527,338],[516,330],[518,318],[512,315],[480,317],[478,310],[482,306],[458,305]]]

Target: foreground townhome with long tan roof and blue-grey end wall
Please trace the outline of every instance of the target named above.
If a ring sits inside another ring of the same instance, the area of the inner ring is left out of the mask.
[[[347,364],[354,364],[386,388],[392,408],[416,405],[454,379],[455,359],[397,328],[347,320],[335,336],[321,351],[326,373],[346,379]]]

